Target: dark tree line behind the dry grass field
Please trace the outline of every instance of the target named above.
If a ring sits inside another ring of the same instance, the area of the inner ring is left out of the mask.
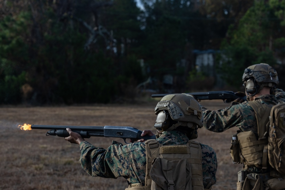
[[[280,85],[285,0],[0,0],[0,103],[110,103],[152,79],[194,91],[193,50],[219,50],[215,69],[239,90],[244,68],[268,63]],[[177,64],[184,61],[184,66]],[[285,79],[284,79],[285,80]],[[212,90],[212,89],[208,89]]]

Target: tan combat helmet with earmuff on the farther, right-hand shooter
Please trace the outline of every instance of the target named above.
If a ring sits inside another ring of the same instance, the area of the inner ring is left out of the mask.
[[[273,90],[279,83],[276,70],[265,63],[246,68],[242,79],[245,91],[249,96],[258,94],[264,86],[271,87]]]

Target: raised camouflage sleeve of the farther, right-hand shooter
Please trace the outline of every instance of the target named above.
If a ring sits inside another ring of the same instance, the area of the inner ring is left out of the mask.
[[[256,123],[255,112],[247,102],[232,103],[229,107],[216,111],[203,109],[203,114],[203,126],[213,132],[223,132],[234,126],[247,131]]]

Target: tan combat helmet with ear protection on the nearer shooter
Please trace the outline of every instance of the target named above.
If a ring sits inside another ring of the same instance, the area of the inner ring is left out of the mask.
[[[157,103],[154,111],[157,115],[154,127],[161,132],[180,126],[193,132],[203,126],[202,107],[188,94],[166,95]]]

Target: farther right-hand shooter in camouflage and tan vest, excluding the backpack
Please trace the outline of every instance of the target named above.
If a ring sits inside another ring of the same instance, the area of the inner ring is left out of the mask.
[[[238,100],[229,107],[216,111],[204,108],[203,126],[213,132],[238,127],[237,135],[233,137],[237,138],[237,146],[233,148],[232,143],[231,148],[233,160],[243,163],[243,170],[238,175],[237,190],[283,189],[284,176],[263,162],[265,159],[262,158],[267,156],[263,150],[268,143],[265,126],[269,122],[271,107],[285,102],[285,92],[275,88],[279,82],[277,72],[268,64],[246,68],[242,79],[248,101],[240,103]],[[255,145],[259,147],[253,147]],[[276,176],[282,180],[276,179]],[[246,179],[250,179],[251,184],[244,184]]]

